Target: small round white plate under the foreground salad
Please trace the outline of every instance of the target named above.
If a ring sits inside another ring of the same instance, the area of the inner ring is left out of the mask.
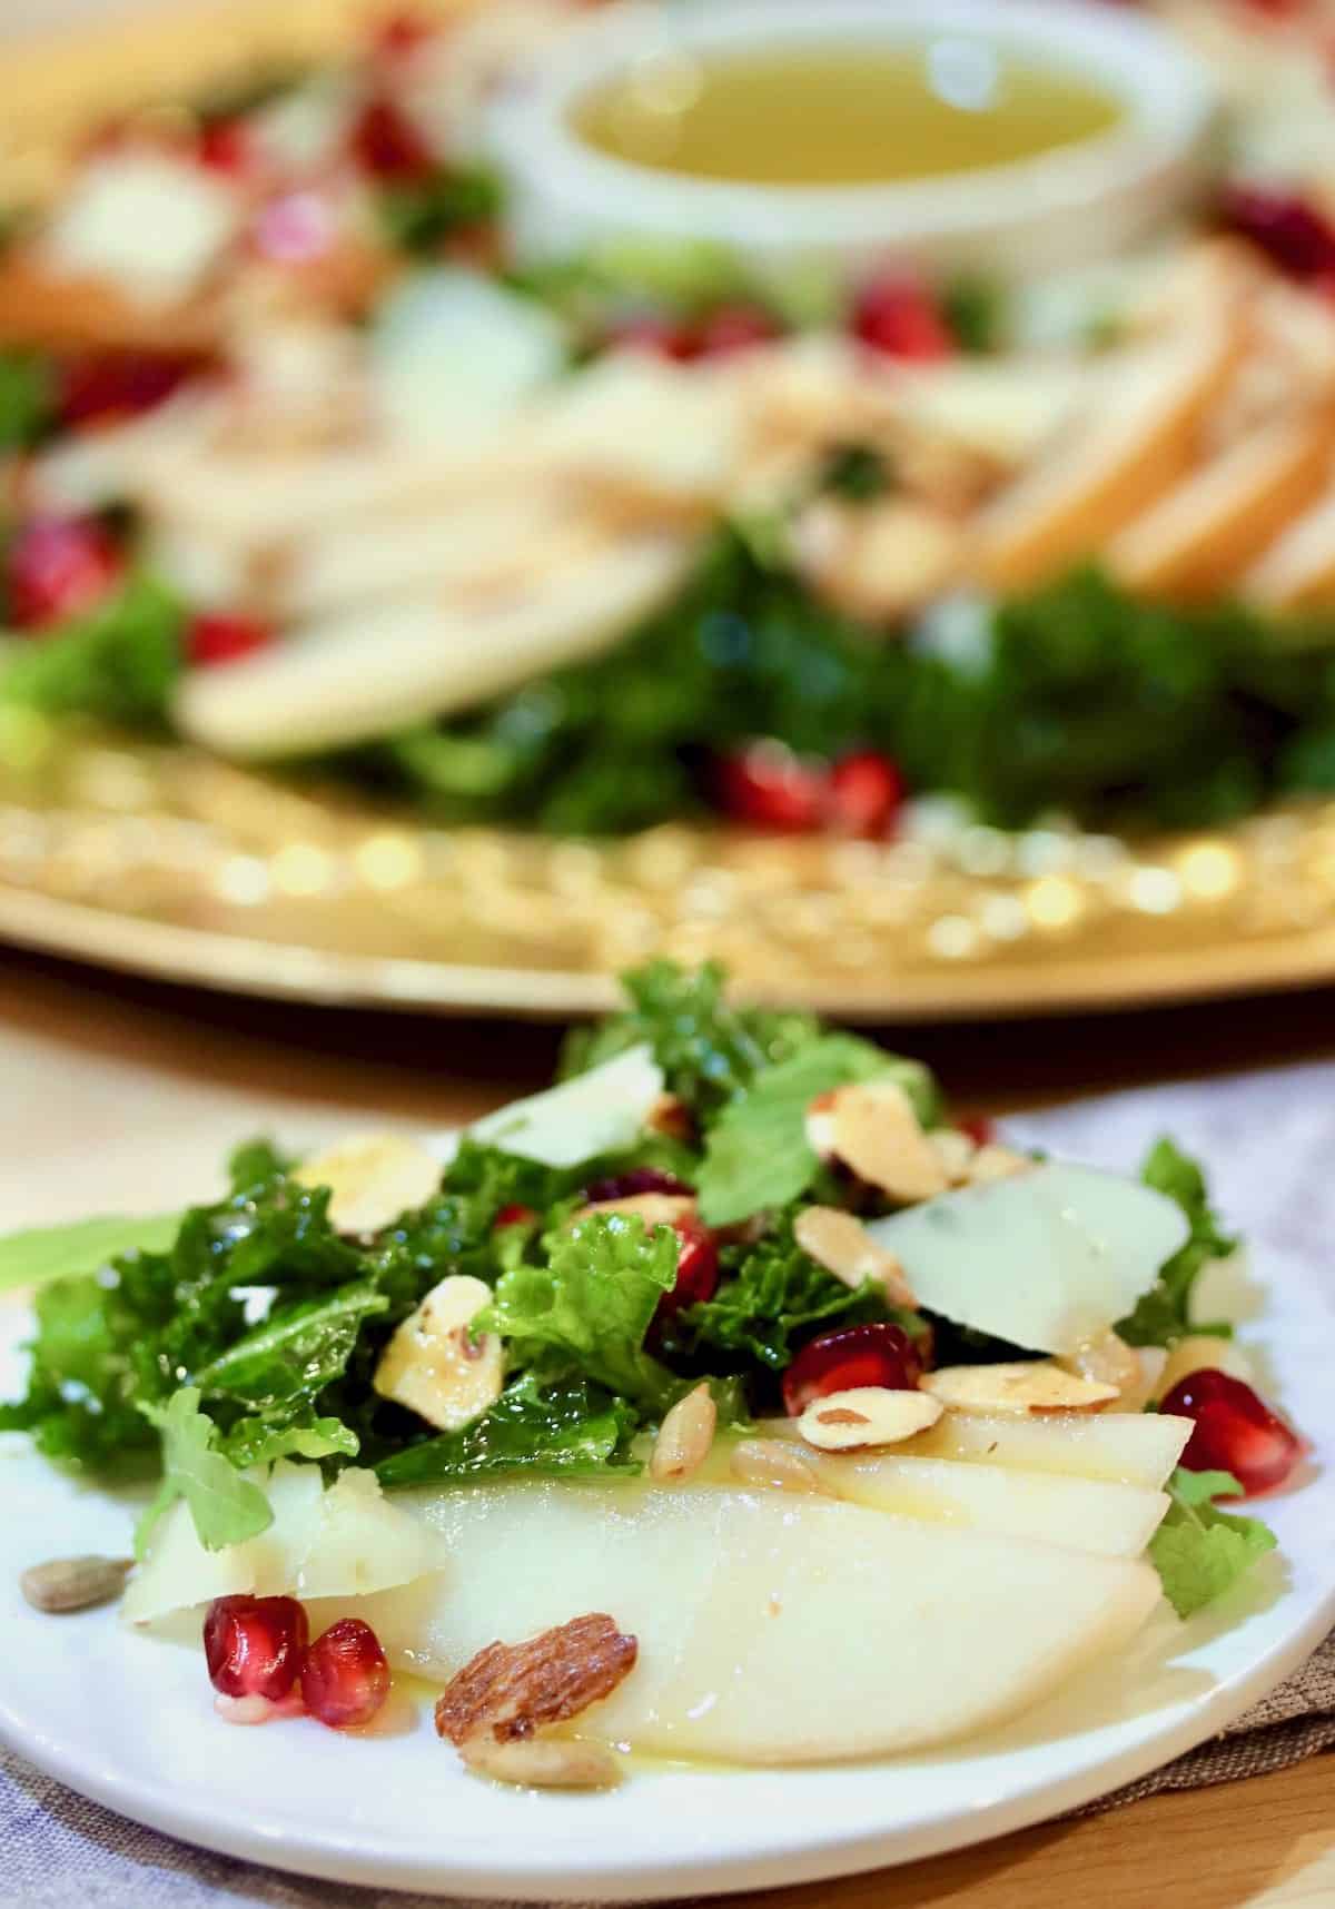
[[[1335,1441],[1335,1321],[1293,1264],[1262,1313],[1278,1397]],[[19,1302],[0,1306],[0,1394],[19,1380]],[[1190,1749],[1272,1689],[1335,1623],[1335,1479],[1308,1464],[1264,1512],[1283,1546],[1245,1600],[953,1751],[827,1770],[636,1770],[609,1794],[493,1789],[437,1743],[428,1693],[376,1737],[315,1722],[229,1730],[197,1647],[128,1634],[115,1611],[40,1617],[17,1592],[42,1558],[124,1552],[132,1506],[11,1441],[0,1523],[0,1737],[155,1829],[348,1882],[487,1898],[667,1898],[903,1863],[1070,1810]],[[1259,1573],[1259,1579],[1262,1575]]]

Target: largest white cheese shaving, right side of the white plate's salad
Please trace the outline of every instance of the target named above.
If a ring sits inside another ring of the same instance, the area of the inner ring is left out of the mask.
[[[1125,1319],[1188,1237],[1163,1193],[1058,1164],[942,1193],[867,1231],[928,1311],[1066,1355]]]

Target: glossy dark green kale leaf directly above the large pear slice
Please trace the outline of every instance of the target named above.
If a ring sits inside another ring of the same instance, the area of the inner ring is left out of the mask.
[[[481,1418],[382,1458],[382,1485],[435,1485],[451,1479],[523,1472],[529,1478],[632,1476],[628,1457],[638,1424],[625,1399],[583,1382],[539,1386],[525,1376],[500,1394]]]

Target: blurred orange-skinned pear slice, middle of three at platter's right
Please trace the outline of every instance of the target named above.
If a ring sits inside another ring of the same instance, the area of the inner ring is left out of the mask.
[[[1333,451],[1329,405],[1249,431],[1127,525],[1108,567],[1129,590],[1213,596],[1312,504]]]

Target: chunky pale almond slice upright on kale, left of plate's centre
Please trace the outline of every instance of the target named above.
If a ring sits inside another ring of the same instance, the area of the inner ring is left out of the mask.
[[[468,1273],[432,1287],[380,1357],[372,1380],[380,1397],[441,1432],[456,1432],[495,1405],[504,1384],[504,1346],[495,1332],[472,1332],[491,1298],[491,1287]]]

